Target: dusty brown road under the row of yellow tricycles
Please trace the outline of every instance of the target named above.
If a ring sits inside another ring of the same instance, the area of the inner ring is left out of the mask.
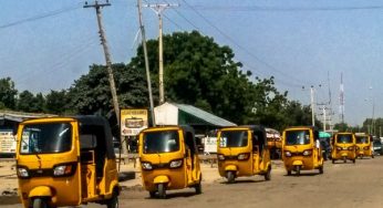
[[[263,177],[240,178],[227,185],[224,179],[194,189],[168,193],[168,199],[149,199],[139,187],[125,190],[121,207],[383,207],[383,157],[358,159],[356,164],[327,162],[324,174],[303,171],[286,176],[282,168],[272,171],[270,181]],[[14,207],[6,206],[6,207]],[[90,205],[90,207],[101,207]]]

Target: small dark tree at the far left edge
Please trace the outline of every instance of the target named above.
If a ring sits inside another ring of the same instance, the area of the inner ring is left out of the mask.
[[[0,107],[14,110],[17,103],[18,91],[10,77],[0,79]]]

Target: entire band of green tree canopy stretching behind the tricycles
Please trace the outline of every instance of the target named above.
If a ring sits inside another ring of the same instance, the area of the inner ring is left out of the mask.
[[[158,104],[158,41],[147,42],[154,103]],[[143,48],[127,63],[112,65],[120,106],[148,107]],[[273,77],[259,79],[235,61],[227,45],[197,31],[164,35],[164,83],[166,101],[190,104],[237,124],[262,124],[282,129],[289,125],[310,125],[311,110],[287,98]],[[0,80],[0,103],[14,108],[17,90],[10,79]],[[68,90],[43,96],[20,93],[21,111],[54,114],[102,114],[113,112],[106,67],[93,64],[87,74]],[[38,104],[35,106],[34,104]]]

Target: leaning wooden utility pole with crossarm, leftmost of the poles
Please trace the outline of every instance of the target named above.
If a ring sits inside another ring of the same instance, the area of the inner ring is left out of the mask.
[[[101,9],[104,7],[108,7],[108,6],[111,6],[111,3],[108,1],[106,1],[106,3],[99,3],[97,1],[94,1],[94,4],[87,4],[87,2],[85,1],[84,8],[94,8],[96,11],[99,33],[100,33],[100,38],[101,38],[101,44],[103,45],[103,49],[104,49],[104,56],[105,56],[105,62],[106,62],[106,70],[107,70],[107,75],[108,75],[110,87],[111,87],[111,92],[112,92],[114,112],[116,114],[117,125],[120,126],[121,124],[120,124],[118,98],[117,98],[116,87],[114,84],[111,53],[110,53],[110,50],[107,48],[107,42],[106,42],[106,38],[105,38],[104,28],[102,24],[102,14],[101,14]],[[125,148],[123,148],[123,150],[126,153],[126,146],[123,145],[123,147],[125,147]]]

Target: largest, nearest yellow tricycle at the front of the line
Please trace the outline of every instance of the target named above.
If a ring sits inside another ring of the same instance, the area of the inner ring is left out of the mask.
[[[118,207],[112,133],[103,117],[48,117],[18,129],[17,174],[23,206],[97,202]]]

